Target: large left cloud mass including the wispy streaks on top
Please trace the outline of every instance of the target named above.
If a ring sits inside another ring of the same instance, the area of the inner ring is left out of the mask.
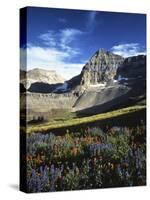
[[[72,59],[80,54],[80,50],[73,45],[83,32],[78,29],[62,29],[58,32],[49,30],[41,34],[40,46],[27,45],[21,49],[22,58],[27,55],[27,70],[33,68],[44,68],[55,70],[66,79],[79,74],[83,63],[74,63]],[[44,44],[44,45],[43,45]],[[25,68],[25,59],[22,59],[21,68]]]

